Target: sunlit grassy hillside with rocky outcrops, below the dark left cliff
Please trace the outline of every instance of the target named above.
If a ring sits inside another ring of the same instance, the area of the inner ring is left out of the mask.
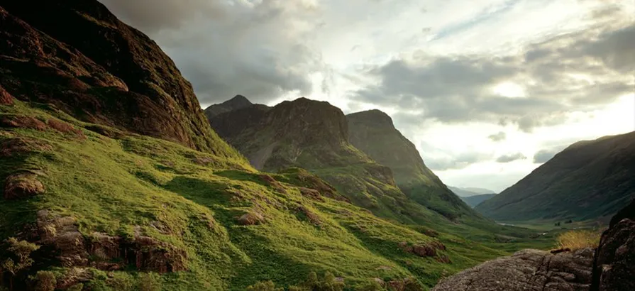
[[[119,290],[149,280],[143,273],[153,271],[159,273],[149,278],[163,290],[243,290],[261,280],[299,284],[310,272],[328,271],[350,287],[410,276],[430,287],[508,253],[377,219],[328,198],[338,194],[303,170],[262,174],[241,159],[84,123],[50,106],[15,103],[0,106],[2,153],[11,153],[2,156],[6,182],[0,187],[22,175],[43,191],[5,197],[0,233],[31,238],[48,250],[35,252],[35,264],[19,278],[52,270],[69,287],[81,279],[96,290]],[[33,126],[38,121],[45,126]],[[77,243],[69,246],[70,236]],[[115,251],[106,243],[112,241],[121,243]],[[434,254],[416,255],[413,245]],[[143,256],[126,258],[118,248]]]

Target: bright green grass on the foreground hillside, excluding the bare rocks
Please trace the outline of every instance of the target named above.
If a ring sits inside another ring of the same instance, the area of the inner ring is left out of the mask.
[[[45,106],[19,101],[0,109],[0,118],[21,114],[65,120],[76,128],[94,126]],[[0,187],[11,173],[32,170],[42,174],[38,179],[46,192],[29,199],[2,201],[0,235],[18,235],[23,226],[35,221],[35,212],[40,209],[72,216],[87,238],[95,231],[130,238],[138,228],[144,235],[187,253],[187,271],[152,275],[164,290],[244,290],[265,280],[289,286],[303,282],[312,271],[331,272],[344,278],[348,287],[372,278],[409,276],[432,287],[443,276],[483,260],[521,247],[546,246],[546,238],[527,238],[531,231],[503,226],[490,231],[486,228],[491,226],[480,227],[479,221],[454,224],[419,204],[404,204],[394,197],[377,199],[377,203],[400,209],[417,207],[417,212],[427,214],[409,224],[379,219],[353,204],[303,197],[298,187],[310,185],[304,185],[297,172],[270,174],[281,182],[280,190],[241,158],[201,153],[147,136],[130,134],[114,139],[87,129],[82,132],[85,140],[50,129],[1,129],[0,143],[28,138],[53,150],[1,157]],[[368,191],[393,187],[372,180],[362,183]],[[311,224],[299,213],[299,205],[316,214],[321,224]],[[236,223],[236,217],[253,209],[263,212],[265,223]],[[158,231],[153,224],[165,226],[167,232]],[[420,258],[398,247],[402,241],[437,239],[417,231],[423,226],[438,232],[438,240],[448,248],[441,253],[452,263]],[[509,235],[516,241],[497,243],[497,235]],[[38,264],[38,269],[53,270],[58,276],[70,271],[55,263]],[[136,286],[142,275],[128,268],[114,272],[121,278],[115,280],[99,270],[90,272],[93,280],[87,285],[94,290],[111,290],[119,283]]]

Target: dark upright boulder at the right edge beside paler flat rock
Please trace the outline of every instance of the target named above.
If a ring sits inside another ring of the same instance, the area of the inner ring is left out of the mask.
[[[593,265],[591,291],[635,290],[635,200],[604,231]]]

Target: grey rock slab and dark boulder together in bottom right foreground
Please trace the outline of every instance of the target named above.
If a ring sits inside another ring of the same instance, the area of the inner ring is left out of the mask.
[[[441,280],[433,290],[635,290],[635,200],[613,217],[597,250],[519,251]]]

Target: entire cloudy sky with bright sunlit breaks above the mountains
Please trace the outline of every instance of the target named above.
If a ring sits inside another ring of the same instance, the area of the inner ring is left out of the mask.
[[[635,130],[635,1],[101,0],[201,106],[243,94],[381,109],[448,185],[495,191]]]

